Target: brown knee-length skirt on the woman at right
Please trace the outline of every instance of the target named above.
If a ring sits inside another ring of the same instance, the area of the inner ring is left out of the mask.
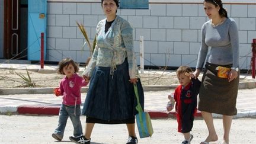
[[[231,68],[231,66],[225,67]],[[228,82],[227,78],[217,76],[216,67],[217,65],[206,63],[206,70],[201,79],[198,109],[227,116],[236,115],[239,73],[236,79]]]

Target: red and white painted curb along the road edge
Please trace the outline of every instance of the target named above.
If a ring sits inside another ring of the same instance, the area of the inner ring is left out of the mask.
[[[18,107],[0,107],[0,114],[45,114],[45,115],[59,115],[60,105],[19,105]],[[82,110],[82,107],[81,107]],[[145,110],[149,113],[152,119],[168,119],[175,118],[175,111],[155,111]],[[197,111],[196,118],[201,118],[201,111]],[[238,111],[234,116],[235,119],[244,117],[256,117],[256,110]],[[222,118],[220,114],[213,114],[213,118]]]

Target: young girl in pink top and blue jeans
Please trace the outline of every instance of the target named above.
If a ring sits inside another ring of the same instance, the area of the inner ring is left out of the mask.
[[[52,134],[52,137],[58,141],[63,138],[68,117],[71,118],[73,124],[73,135],[75,137],[83,135],[80,121],[81,87],[86,86],[88,82],[76,73],[78,71],[79,68],[72,59],[67,58],[59,62],[58,73],[65,76],[60,81],[59,88],[54,90],[56,97],[63,95],[59,112],[59,124]]]

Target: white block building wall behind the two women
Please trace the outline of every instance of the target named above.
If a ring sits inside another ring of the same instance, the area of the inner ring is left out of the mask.
[[[144,36],[145,65],[196,66],[201,25],[208,18],[201,1],[149,0],[149,9],[118,9],[117,14],[134,28],[139,64],[139,37]],[[251,42],[256,39],[256,2],[226,1],[228,16],[236,21],[240,39],[240,66],[250,69]],[[239,9],[239,11],[237,10]],[[48,0],[47,60],[72,57],[84,63],[89,57],[84,36],[75,21],[85,25],[91,41],[98,21],[105,18],[100,1]]]

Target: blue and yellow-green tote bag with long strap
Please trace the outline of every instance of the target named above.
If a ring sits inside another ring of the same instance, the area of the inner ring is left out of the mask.
[[[143,137],[149,137],[153,135],[153,127],[151,123],[151,117],[149,116],[149,113],[144,112],[142,110],[142,107],[139,102],[139,94],[137,92],[137,85],[133,85],[135,90],[135,96],[137,99],[137,106],[136,110],[138,113],[136,114],[136,123],[137,123],[137,129],[139,130],[139,136],[140,138]]]

